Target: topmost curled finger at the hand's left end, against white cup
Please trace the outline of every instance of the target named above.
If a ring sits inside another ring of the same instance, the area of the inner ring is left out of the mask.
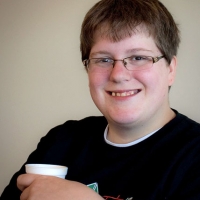
[[[35,174],[22,174],[17,178],[17,187],[23,191],[36,179],[38,175]]]

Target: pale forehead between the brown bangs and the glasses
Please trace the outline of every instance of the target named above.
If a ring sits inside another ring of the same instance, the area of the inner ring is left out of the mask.
[[[121,57],[137,52],[144,52],[144,54],[150,55],[153,55],[154,52],[159,52],[152,36],[141,28],[134,31],[131,36],[123,37],[118,41],[113,41],[112,38],[106,37],[105,34],[96,32],[90,56],[111,54]]]

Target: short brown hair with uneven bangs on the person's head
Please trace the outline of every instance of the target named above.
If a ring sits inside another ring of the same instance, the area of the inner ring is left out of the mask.
[[[82,60],[89,58],[95,34],[117,42],[132,36],[139,25],[145,26],[170,64],[173,56],[177,55],[180,31],[170,12],[158,0],[101,0],[96,3],[82,23]]]

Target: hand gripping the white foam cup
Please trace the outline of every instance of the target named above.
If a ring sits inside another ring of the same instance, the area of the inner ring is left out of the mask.
[[[17,179],[20,200],[103,200],[86,185],[53,176],[23,174]]]

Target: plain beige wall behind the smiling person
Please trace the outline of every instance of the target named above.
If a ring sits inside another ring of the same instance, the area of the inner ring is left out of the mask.
[[[99,115],[79,33],[97,0],[0,0],[0,193],[47,131]],[[200,1],[162,0],[182,31],[171,105],[200,122]]]

